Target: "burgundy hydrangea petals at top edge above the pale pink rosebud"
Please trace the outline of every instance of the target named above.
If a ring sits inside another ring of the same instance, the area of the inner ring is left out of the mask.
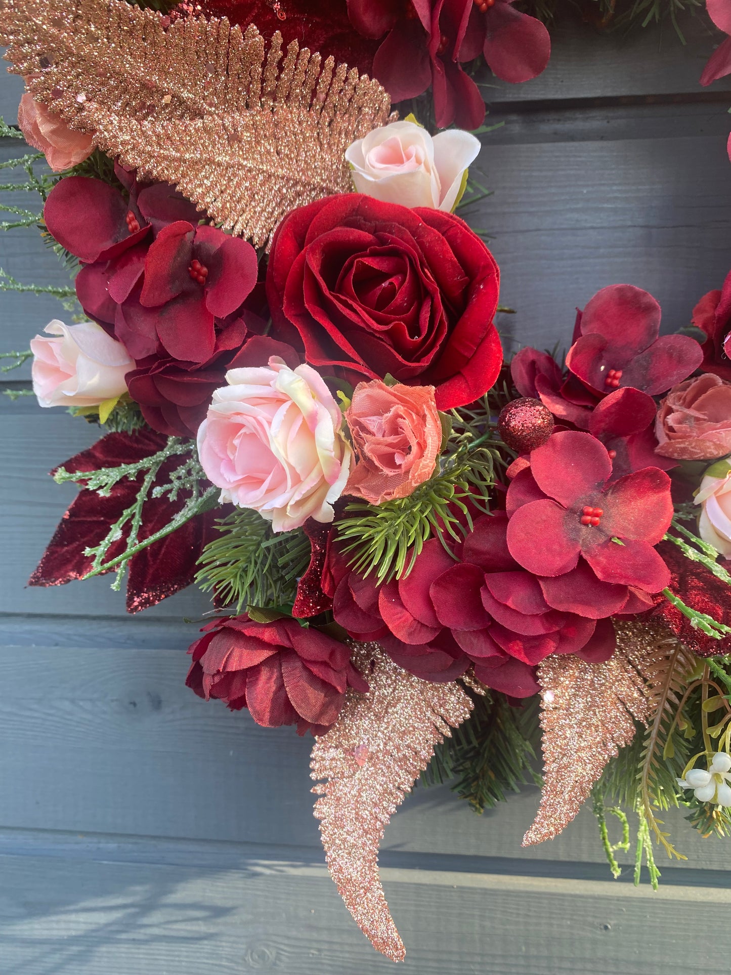
[[[383,37],[373,75],[392,100],[416,98],[431,86],[438,128],[481,126],[484,101],[459,64],[464,35],[444,0],[348,0],[348,15],[365,37]]]

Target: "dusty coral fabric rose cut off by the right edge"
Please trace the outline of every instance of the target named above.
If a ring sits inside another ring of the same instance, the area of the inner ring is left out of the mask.
[[[731,453],[731,382],[707,372],[680,382],[660,404],[655,452],[676,460]]]

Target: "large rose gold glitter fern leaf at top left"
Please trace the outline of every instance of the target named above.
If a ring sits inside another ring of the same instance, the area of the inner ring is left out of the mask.
[[[0,0],[10,70],[140,176],[178,186],[255,245],[294,207],[351,190],[344,153],[388,121],[385,90],[345,64],[265,53],[254,26],[176,20],[124,0]]]

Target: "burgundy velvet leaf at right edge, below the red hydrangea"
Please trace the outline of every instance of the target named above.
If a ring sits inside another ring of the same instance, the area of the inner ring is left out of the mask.
[[[657,550],[671,570],[669,589],[684,604],[731,626],[731,587],[713,575],[711,569],[686,559],[673,542],[661,542]],[[655,597],[653,616],[661,617],[678,640],[700,657],[731,652],[731,637],[713,640],[691,626],[690,620],[662,595]]]

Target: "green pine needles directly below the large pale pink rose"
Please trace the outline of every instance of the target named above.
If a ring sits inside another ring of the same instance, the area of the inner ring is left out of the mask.
[[[196,582],[239,613],[248,605],[291,606],[297,579],[310,560],[301,528],[275,534],[250,508],[237,508],[216,524],[220,536],[204,549]]]

